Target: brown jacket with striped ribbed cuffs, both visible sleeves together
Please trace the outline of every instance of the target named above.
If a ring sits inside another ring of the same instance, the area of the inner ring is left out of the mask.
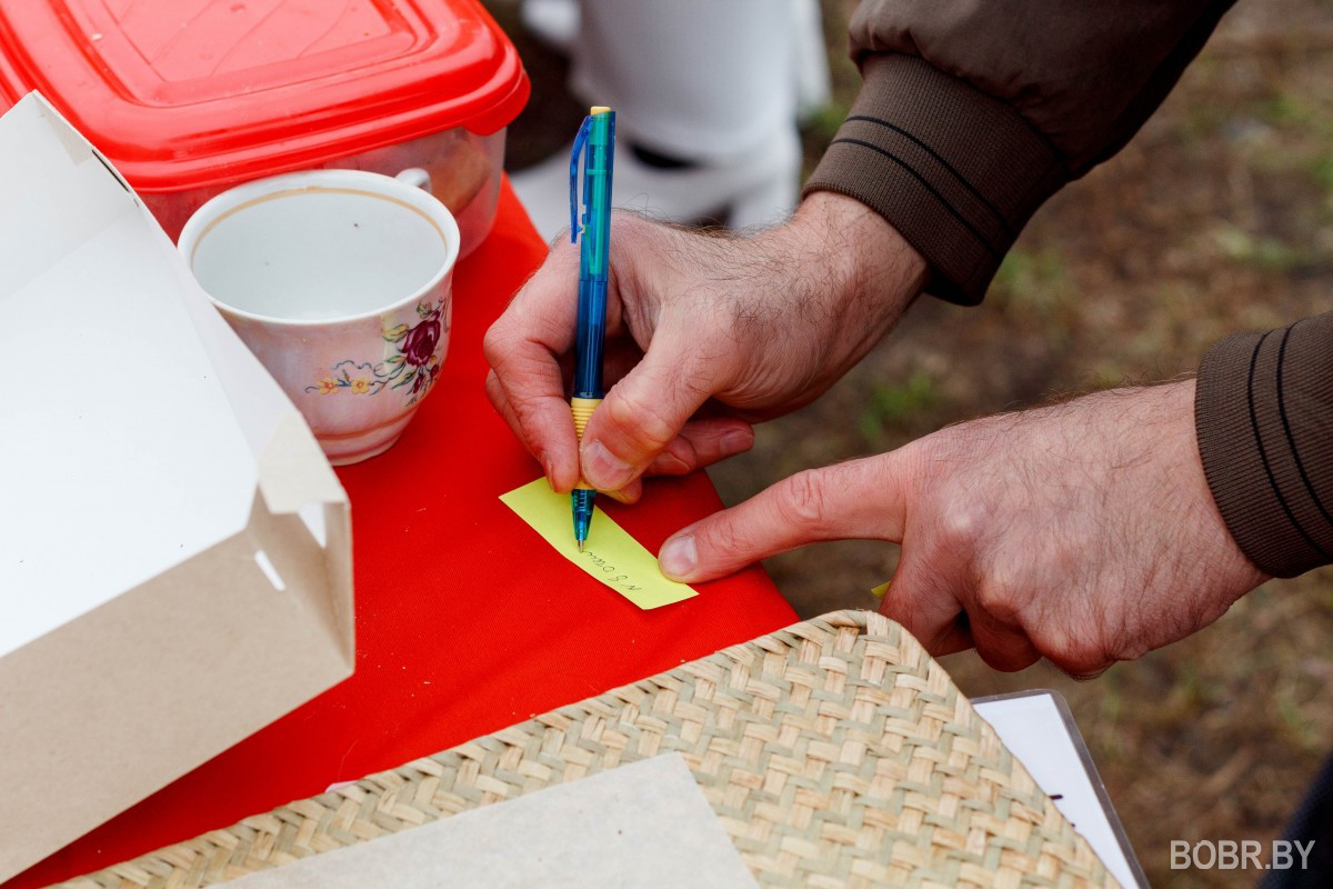
[[[861,93],[805,189],[873,208],[976,304],[1033,212],[1114,155],[1233,0],[862,0]],[[1241,549],[1282,577],[1333,562],[1333,313],[1217,344],[1200,452]]]

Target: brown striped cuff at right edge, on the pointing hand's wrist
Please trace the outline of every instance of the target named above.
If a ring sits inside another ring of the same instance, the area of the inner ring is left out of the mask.
[[[1194,424],[1241,552],[1274,577],[1333,562],[1333,315],[1214,345]]]

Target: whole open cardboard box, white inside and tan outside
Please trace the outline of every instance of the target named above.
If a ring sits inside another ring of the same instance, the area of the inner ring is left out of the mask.
[[[0,881],[352,673],[348,502],[124,180],[0,119]]]

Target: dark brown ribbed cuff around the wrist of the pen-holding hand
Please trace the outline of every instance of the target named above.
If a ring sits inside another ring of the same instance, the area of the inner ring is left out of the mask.
[[[974,305],[1069,176],[1018,112],[917,56],[870,56],[862,75],[802,193],[838,192],[872,208],[929,263],[926,292]]]

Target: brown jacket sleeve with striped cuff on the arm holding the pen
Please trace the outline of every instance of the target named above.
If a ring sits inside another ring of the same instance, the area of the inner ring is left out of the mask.
[[[866,204],[980,303],[1032,213],[1112,156],[1232,0],[862,0],[864,85],[805,191]]]

